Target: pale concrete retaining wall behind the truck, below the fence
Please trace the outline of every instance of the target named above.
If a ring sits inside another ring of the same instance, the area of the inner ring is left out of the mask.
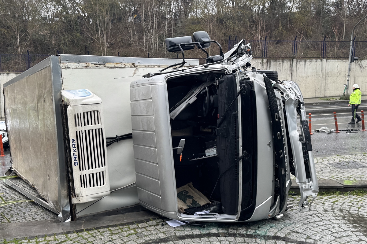
[[[252,59],[252,67],[276,70],[280,80],[293,80],[301,87],[304,98],[334,96],[344,91],[348,74],[347,59]],[[363,95],[367,94],[367,59],[355,61],[350,67],[349,93],[352,85],[359,84]],[[4,117],[3,84],[18,73],[0,73],[0,117]]]

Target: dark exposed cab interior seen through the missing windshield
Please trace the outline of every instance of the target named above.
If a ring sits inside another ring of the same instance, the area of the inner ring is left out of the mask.
[[[179,214],[234,219],[239,202],[235,76],[205,72],[166,84]]]

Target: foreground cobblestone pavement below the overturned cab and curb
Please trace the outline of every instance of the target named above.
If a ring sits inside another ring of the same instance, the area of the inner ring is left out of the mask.
[[[294,203],[298,199],[294,199]],[[132,225],[113,226],[79,233],[58,234],[4,243],[367,243],[367,196],[319,196],[313,210],[300,213],[292,208],[280,221],[251,223],[207,223],[170,227],[160,218]]]

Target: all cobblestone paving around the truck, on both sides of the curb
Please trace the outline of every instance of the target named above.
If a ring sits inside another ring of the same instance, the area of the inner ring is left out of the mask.
[[[318,179],[366,180],[366,154],[315,158]],[[36,190],[25,182],[19,185]],[[27,200],[25,196],[0,181],[0,193],[6,201]],[[297,206],[297,199],[294,200]],[[299,213],[289,210],[280,221],[264,220],[252,223],[207,223],[196,226],[168,226],[160,218],[137,225],[121,225],[79,233],[28,238],[5,243],[364,243],[367,244],[367,196],[318,196],[313,211]],[[33,202],[0,207],[0,212],[12,222],[55,219],[57,215]],[[7,221],[0,216],[0,223]],[[1,234],[1,233],[0,233]],[[0,236],[1,240],[1,236]],[[9,241],[9,240],[8,240]]]

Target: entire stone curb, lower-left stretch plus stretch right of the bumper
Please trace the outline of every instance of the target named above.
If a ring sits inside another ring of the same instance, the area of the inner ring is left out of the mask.
[[[319,192],[350,192],[353,190],[367,190],[367,180],[365,181],[346,181],[346,180],[326,180],[319,179]],[[294,179],[290,187],[292,192],[299,194],[299,186]],[[25,237],[45,237],[58,234],[83,232],[93,229],[101,229],[117,225],[131,225],[151,221],[153,219],[164,218],[149,210],[129,212],[126,214],[117,214],[109,216],[98,216],[86,219],[80,219],[70,222],[51,221],[31,221],[19,223],[0,224],[1,238],[0,242],[6,240],[19,239]]]

